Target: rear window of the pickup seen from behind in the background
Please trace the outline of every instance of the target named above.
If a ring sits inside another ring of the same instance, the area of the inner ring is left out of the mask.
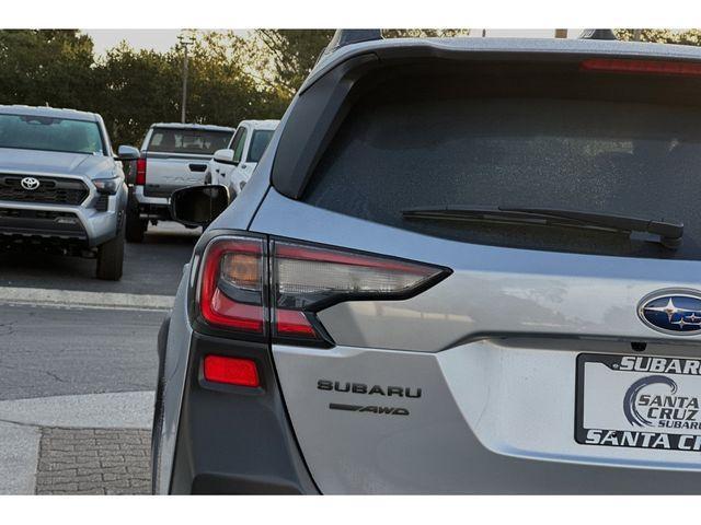
[[[156,128],[146,149],[163,153],[211,155],[217,150],[226,149],[232,135],[232,131]]]

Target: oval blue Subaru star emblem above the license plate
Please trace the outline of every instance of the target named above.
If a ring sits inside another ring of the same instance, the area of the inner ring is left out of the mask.
[[[637,315],[647,326],[664,334],[701,334],[701,293],[691,290],[662,290],[644,298]]]

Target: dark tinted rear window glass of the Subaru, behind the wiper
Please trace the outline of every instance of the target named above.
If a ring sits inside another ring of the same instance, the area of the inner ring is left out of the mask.
[[[515,88],[518,79],[507,89],[497,86],[509,83],[504,78],[493,86],[484,78],[472,79],[472,84],[469,78],[434,80],[416,85],[392,81],[364,96],[322,156],[303,199],[361,219],[472,243],[701,257],[701,109],[680,104],[683,96],[669,93],[665,100],[635,88],[612,91],[610,85],[591,90],[596,78],[578,85],[574,79],[564,82],[574,86],[567,90],[524,78],[520,85],[527,89]],[[563,84],[563,79],[553,83]],[[543,96],[543,91],[552,94]],[[674,252],[610,233],[402,217],[407,208],[449,205],[559,208],[680,221],[685,235],[681,248]]]

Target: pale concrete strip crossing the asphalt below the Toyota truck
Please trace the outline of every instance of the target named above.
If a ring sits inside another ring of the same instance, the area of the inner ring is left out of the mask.
[[[174,300],[175,298],[172,295],[0,287],[0,303],[119,310],[171,310]]]

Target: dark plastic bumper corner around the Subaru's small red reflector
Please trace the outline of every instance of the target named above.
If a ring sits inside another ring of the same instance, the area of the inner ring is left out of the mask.
[[[209,353],[255,360],[263,387],[207,384],[200,363]],[[156,413],[162,412],[157,407]],[[169,463],[173,494],[319,493],[292,435],[266,345],[193,334],[175,450],[170,458],[160,455],[161,471]]]

